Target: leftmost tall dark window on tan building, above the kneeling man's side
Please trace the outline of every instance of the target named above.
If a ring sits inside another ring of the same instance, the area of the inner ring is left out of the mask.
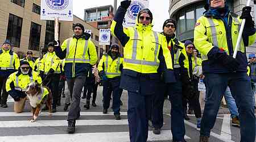
[[[15,46],[19,47],[20,45],[20,36],[22,31],[22,18],[9,14],[9,22],[7,28],[6,39]]]

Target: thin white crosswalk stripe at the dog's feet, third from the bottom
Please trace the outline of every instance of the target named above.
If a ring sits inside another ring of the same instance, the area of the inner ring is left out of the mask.
[[[121,115],[127,115],[127,112],[120,112]],[[40,116],[48,116],[49,112],[41,112]],[[52,116],[67,116],[68,112],[55,112],[51,114]],[[108,112],[108,114],[102,114],[102,112],[80,112],[80,115],[82,116],[105,116],[105,115],[114,115],[114,112]],[[31,112],[22,112],[22,113],[15,113],[15,112],[0,112],[0,117],[1,116],[32,116]]]

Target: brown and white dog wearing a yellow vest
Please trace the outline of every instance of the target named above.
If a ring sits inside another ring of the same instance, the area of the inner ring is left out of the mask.
[[[43,104],[46,104],[49,108],[49,113],[51,113],[52,94],[48,87],[40,86],[38,82],[31,82],[28,84],[25,93],[27,94],[28,99],[30,99],[30,105],[32,107],[32,119],[30,122],[36,121]]]

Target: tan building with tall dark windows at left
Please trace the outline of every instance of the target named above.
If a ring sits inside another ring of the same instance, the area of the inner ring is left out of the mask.
[[[39,57],[40,49],[54,40],[54,21],[40,20],[40,0],[0,0],[0,44],[11,41],[15,52],[32,51]],[[81,23],[92,30],[92,41],[98,55],[103,49],[98,45],[99,31],[84,20],[73,16],[73,22],[59,22],[59,40],[62,43],[73,35],[73,24]],[[102,53],[101,53],[102,54]]]

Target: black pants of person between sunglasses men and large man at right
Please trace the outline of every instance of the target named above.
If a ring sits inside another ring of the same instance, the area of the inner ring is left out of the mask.
[[[187,102],[189,101],[191,108],[193,109],[196,118],[202,117],[201,112],[201,106],[199,102],[199,91],[197,86],[198,81],[193,80],[192,84],[194,85],[193,91],[191,91],[191,88],[188,88],[187,85],[183,85],[183,91],[182,91],[182,104],[184,111],[187,111]]]

